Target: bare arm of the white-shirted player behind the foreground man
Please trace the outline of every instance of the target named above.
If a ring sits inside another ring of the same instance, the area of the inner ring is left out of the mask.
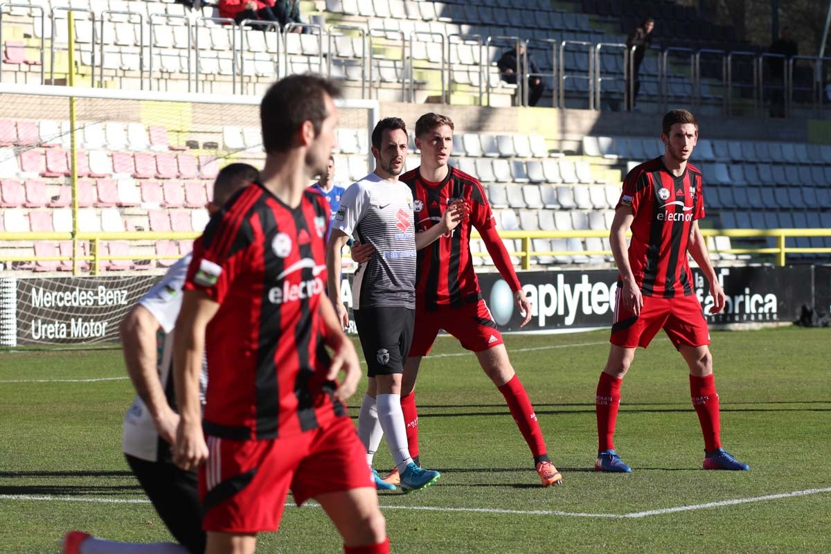
[[[156,369],[156,332],[159,329],[159,322],[140,305],[130,310],[119,326],[127,375],[155,419],[168,408]]]

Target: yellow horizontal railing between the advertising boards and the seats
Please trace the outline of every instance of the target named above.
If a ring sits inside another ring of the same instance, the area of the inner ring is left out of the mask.
[[[701,233],[705,237],[730,237],[730,238],[776,238],[776,246],[774,248],[729,248],[729,249],[715,249],[711,248],[711,252],[723,252],[730,254],[774,254],[776,257],[776,265],[784,266],[785,259],[789,253],[814,253],[814,254],[831,254],[831,248],[794,248],[785,247],[785,238],[787,237],[831,237],[831,229],[809,228],[809,229],[767,229],[764,231],[758,229],[701,229]],[[78,273],[78,262],[91,262],[90,271],[92,274],[97,274],[100,271],[101,260],[135,260],[140,258],[142,260],[155,261],[164,259],[176,259],[179,255],[162,255],[162,254],[140,254],[139,256],[112,256],[110,254],[103,254],[101,248],[98,248],[101,241],[108,240],[125,240],[125,241],[155,241],[155,240],[191,240],[199,237],[200,233],[195,232],[161,232],[161,231],[125,231],[122,233],[93,233],[93,232],[78,232],[73,233],[11,233],[0,232],[0,242],[32,242],[37,240],[47,241],[61,241],[73,240],[75,243],[79,241],[90,241],[90,253],[87,255],[80,255],[77,248],[73,248],[74,257],[70,256],[50,256],[50,257],[35,257],[35,256],[0,256],[0,262],[72,262],[72,267],[75,268],[74,273]],[[532,248],[531,241],[534,238],[605,238],[608,237],[608,231],[503,231],[499,233],[502,238],[519,238],[522,241],[522,249],[511,252],[511,256],[521,258],[523,269],[530,269],[532,256],[607,256],[612,253],[611,250],[556,250],[556,251],[535,251]],[[474,233],[474,237],[478,237]],[[488,256],[488,252],[474,252],[474,256]],[[348,257],[347,253],[344,256]]]

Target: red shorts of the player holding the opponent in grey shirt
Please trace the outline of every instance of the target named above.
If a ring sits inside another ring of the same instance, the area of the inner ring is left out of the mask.
[[[459,339],[469,351],[481,352],[504,344],[488,305],[479,299],[479,302],[460,308],[440,306],[438,311],[416,307],[416,329],[410,355],[427,355],[440,329]]]

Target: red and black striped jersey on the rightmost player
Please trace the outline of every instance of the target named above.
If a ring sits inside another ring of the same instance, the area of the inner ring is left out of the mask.
[[[672,298],[693,293],[686,247],[692,222],[704,217],[701,171],[692,164],[676,177],[661,158],[638,165],[623,179],[617,208],[629,206],[629,264],[641,292]],[[620,277],[618,277],[620,278]]]

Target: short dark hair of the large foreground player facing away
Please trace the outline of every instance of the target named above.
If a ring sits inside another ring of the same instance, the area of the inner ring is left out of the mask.
[[[286,152],[305,121],[311,121],[315,135],[327,117],[326,96],[341,95],[333,81],[321,76],[292,75],[274,83],[260,104],[263,147],[267,154]]]

